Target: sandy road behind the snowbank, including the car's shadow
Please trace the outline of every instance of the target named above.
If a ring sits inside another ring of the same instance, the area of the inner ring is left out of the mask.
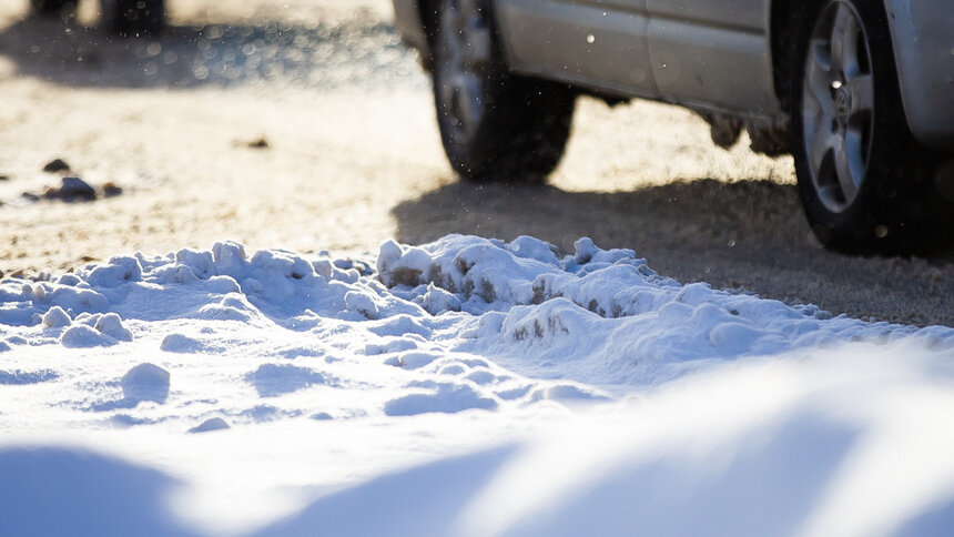
[[[451,232],[579,236],[660,273],[833,313],[954,325],[954,259],[861,259],[812,240],[791,159],[723,151],[698,118],[582,99],[544,188],[459,183],[429,83],[386,0],[168,0],[162,39],[112,41],[0,6],[0,271],[62,272],[232,239],[375,252]],[[266,146],[254,142],[265,141]],[[94,202],[31,201],[53,159]]]

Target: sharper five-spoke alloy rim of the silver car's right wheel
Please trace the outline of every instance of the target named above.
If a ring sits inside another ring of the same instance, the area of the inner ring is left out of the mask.
[[[815,23],[802,83],[802,135],[819,201],[851,206],[864,182],[874,128],[874,79],[857,11],[834,0]]]

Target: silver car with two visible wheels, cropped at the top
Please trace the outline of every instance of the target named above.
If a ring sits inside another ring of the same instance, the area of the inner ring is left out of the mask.
[[[394,0],[463,178],[542,181],[576,95],[684,105],[792,153],[829,245],[909,250],[954,214],[951,0]]]

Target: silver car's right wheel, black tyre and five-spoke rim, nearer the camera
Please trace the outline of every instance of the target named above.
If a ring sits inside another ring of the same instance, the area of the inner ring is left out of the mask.
[[[792,70],[792,154],[818,240],[841,250],[931,247],[928,197],[940,155],[907,128],[880,1],[816,0],[800,21]]]

